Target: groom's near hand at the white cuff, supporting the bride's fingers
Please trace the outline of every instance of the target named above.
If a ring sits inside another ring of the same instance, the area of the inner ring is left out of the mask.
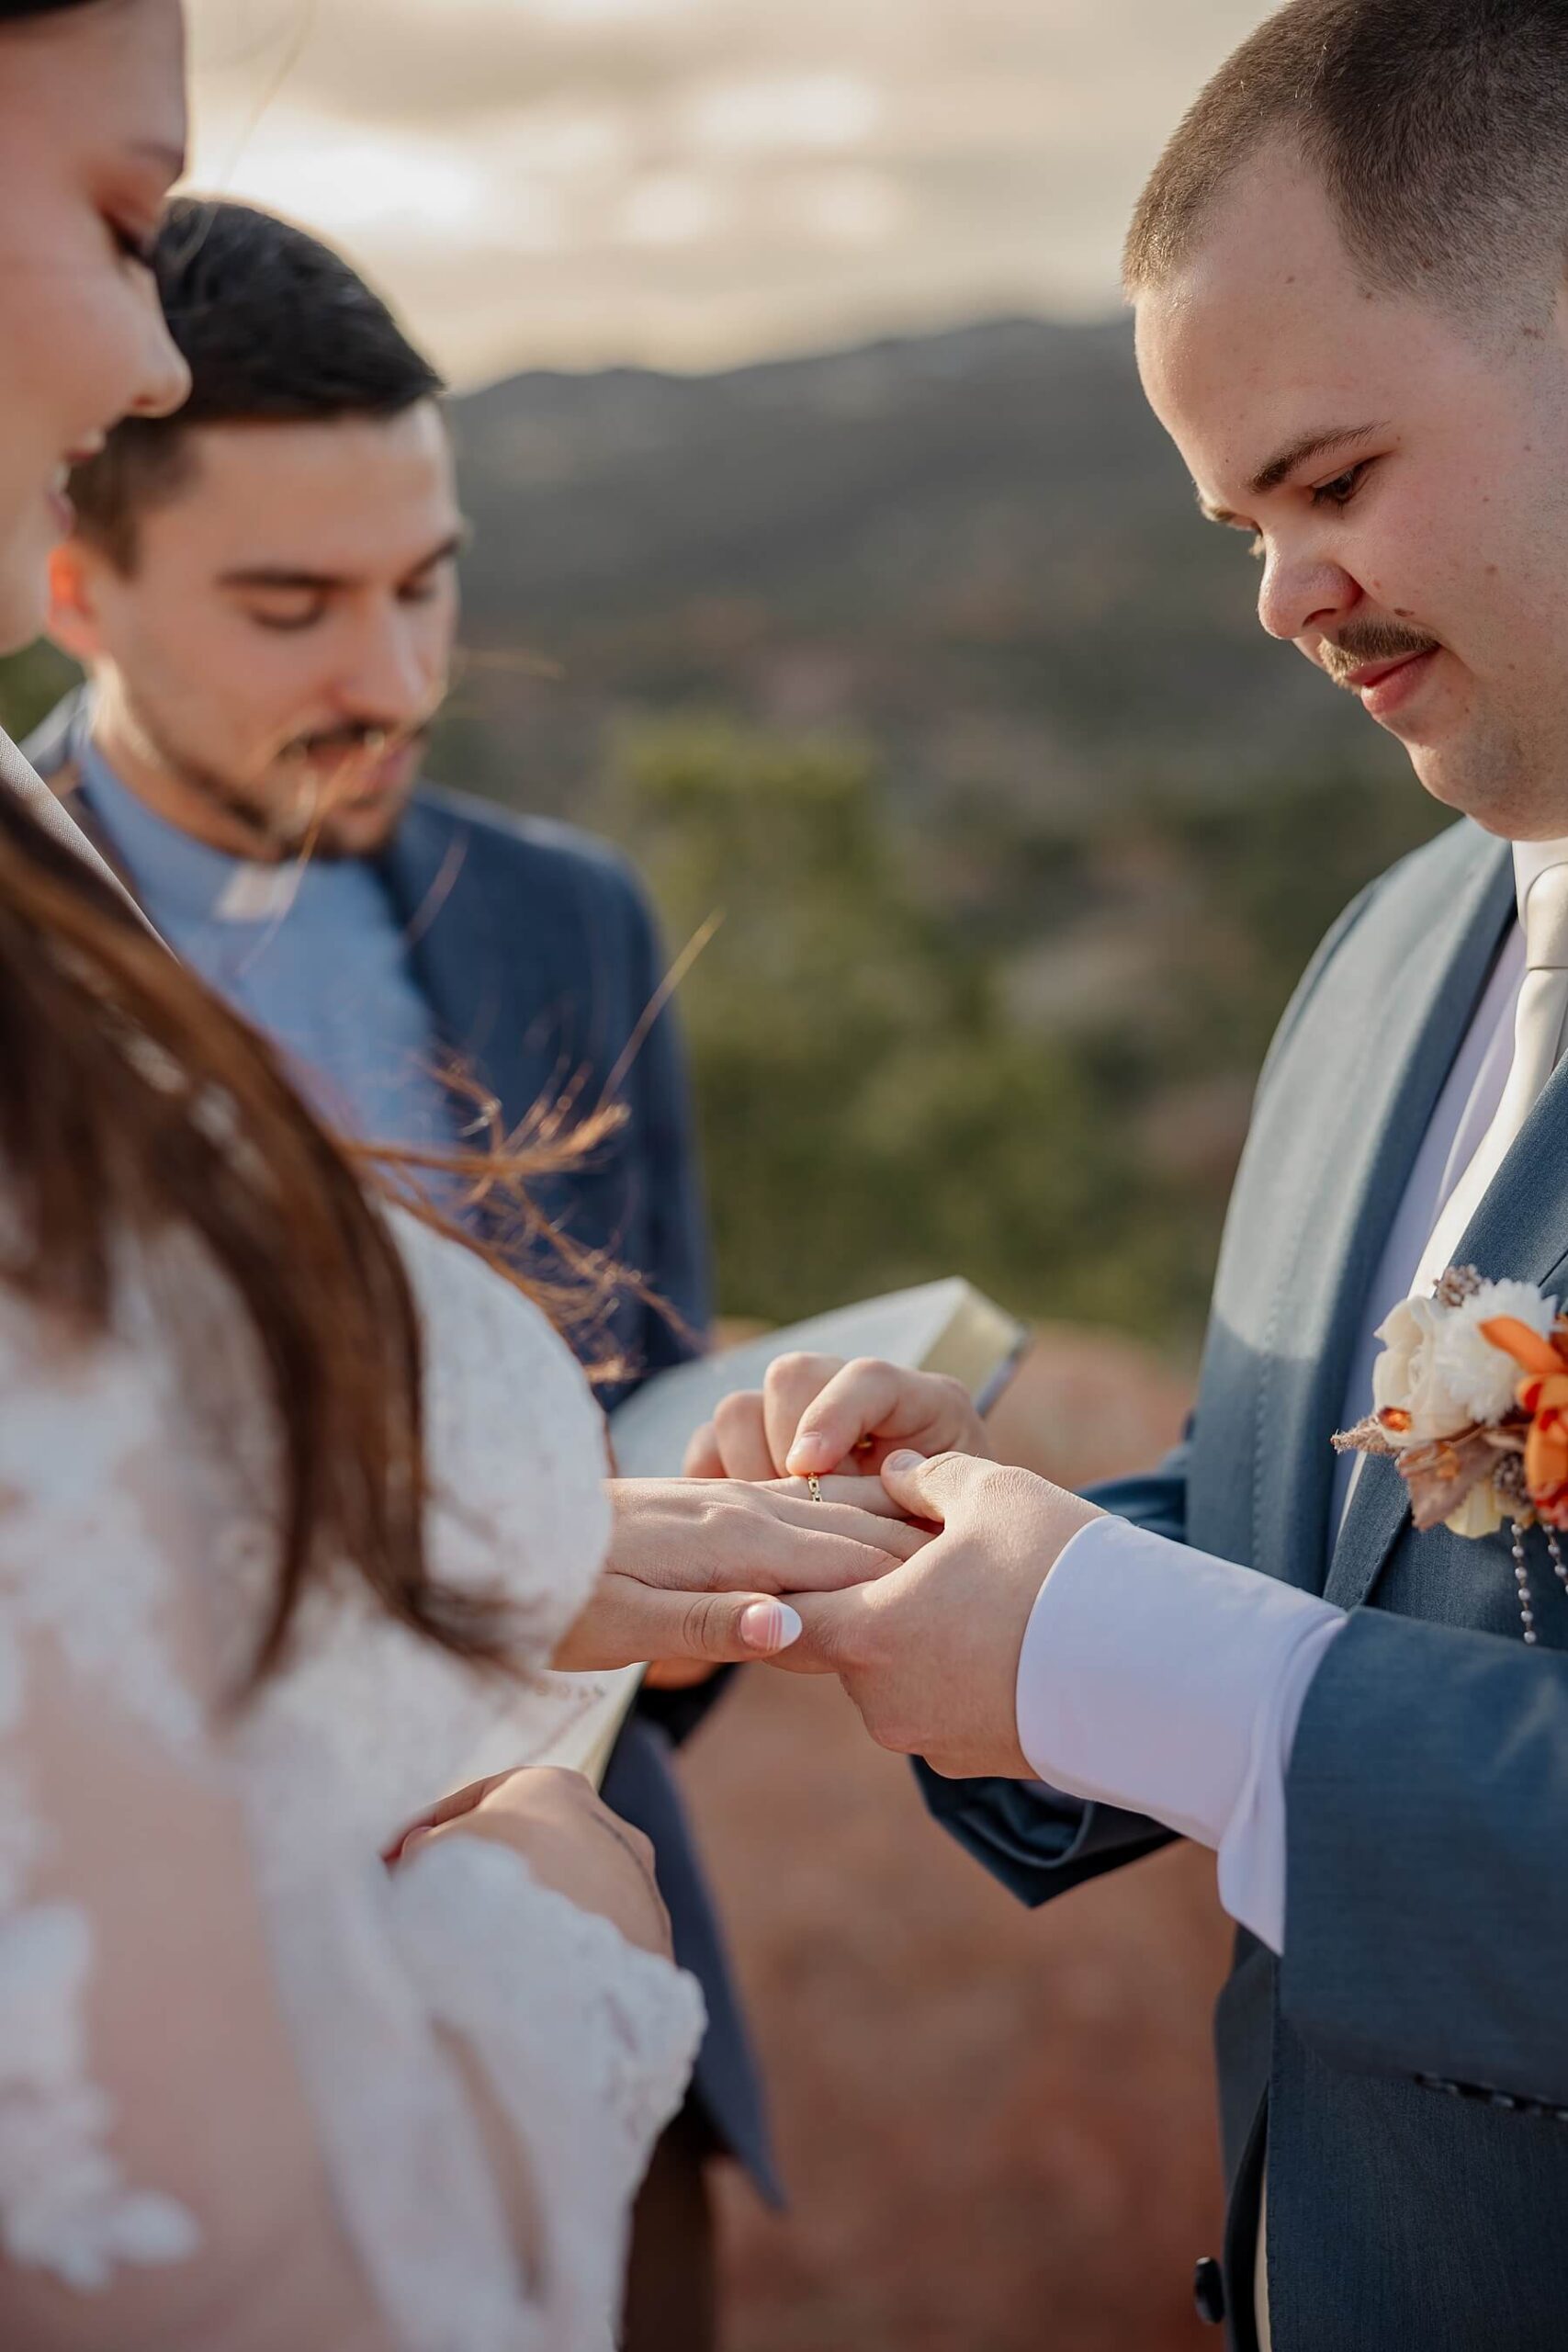
[[[790,1595],[802,1637],[783,1665],[839,1675],[879,1748],[952,1780],[1032,1780],[1018,1745],[1018,1651],[1039,1588],[1103,1512],[1027,1470],[959,1454],[893,1454],[882,1479],[940,1534],[853,1592]]]

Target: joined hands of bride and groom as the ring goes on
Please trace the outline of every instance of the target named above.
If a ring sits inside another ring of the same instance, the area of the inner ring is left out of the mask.
[[[703,1494],[726,1503],[703,1512]],[[661,1585],[661,1656],[710,1642],[717,1656],[839,1675],[882,1748],[952,1778],[1032,1776],[1018,1745],[1023,1635],[1056,1559],[1100,1512],[994,1463],[957,1381],[780,1357],[762,1390],[726,1397],[698,1430],[684,1479],[621,1496],[599,1606],[614,1616],[618,1576]],[[630,1588],[628,1637],[642,1606]]]

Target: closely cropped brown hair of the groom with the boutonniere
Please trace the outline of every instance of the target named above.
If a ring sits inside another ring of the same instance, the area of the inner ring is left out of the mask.
[[[1568,259],[1566,0],[1288,0],[1159,158],[1124,252],[1166,285],[1279,141],[1321,174],[1368,285],[1460,318],[1544,308]]]

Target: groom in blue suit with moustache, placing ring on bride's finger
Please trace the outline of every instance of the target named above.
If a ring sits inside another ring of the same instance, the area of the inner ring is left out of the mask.
[[[1526,1646],[1507,1534],[1415,1534],[1389,1461],[1331,1451],[1443,1263],[1568,1294],[1566,254],[1561,0],[1291,0],[1199,96],[1126,247],[1147,395],[1269,635],[1469,821],[1284,1018],[1157,1472],[966,1461],[959,1399],[889,1367],[752,1404],[797,1475],[877,1439],[943,1526],[799,1606],[990,1870],[1041,1903],[1215,1849],[1199,2310],[1239,2352],[1568,2343],[1568,1590],[1530,1534]]]

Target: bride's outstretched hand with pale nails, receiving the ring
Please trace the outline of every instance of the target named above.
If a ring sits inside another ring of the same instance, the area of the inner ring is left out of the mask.
[[[926,1534],[879,1479],[832,1479],[813,1503],[797,1482],[611,1479],[609,1559],[555,1653],[583,1672],[642,1658],[773,1658],[799,1635],[780,1592],[842,1592],[886,1576]]]

